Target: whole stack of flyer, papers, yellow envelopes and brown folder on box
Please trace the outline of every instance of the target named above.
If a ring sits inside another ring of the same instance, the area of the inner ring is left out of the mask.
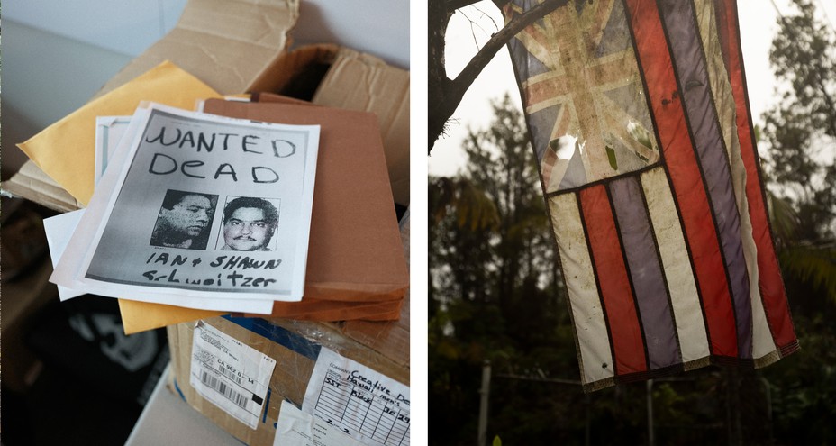
[[[164,63],[21,144],[88,204],[46,222],[61,298],[121,298],[126,332],[396,319],[408,277],[374,115],[217,97]]]

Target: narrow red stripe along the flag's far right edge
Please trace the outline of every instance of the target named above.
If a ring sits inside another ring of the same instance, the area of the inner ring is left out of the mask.
[[[725,30],[723,52],[728,54],[729,64],[726,69],[731,78],[731,93],[737,111],[737,132],[741,141],[741,155],[746,167],[746,197],[749,199],[749,214],[752,223],[752,236],[758,245],[758,270],[760,296],[767,314],[769,328],[776,345],[785,347],[796,341],[795,329],[787,307],[784,281],[775,255],[775,245],[769,231],[768,214],[763,199],[763,189],[758,171],[758,158],[750,126],[749,107],[746,100],[746,79],[743,78],[742,58],[740,53],[740,35],[738,32],[737,4],[734,0],[725,2]]]

